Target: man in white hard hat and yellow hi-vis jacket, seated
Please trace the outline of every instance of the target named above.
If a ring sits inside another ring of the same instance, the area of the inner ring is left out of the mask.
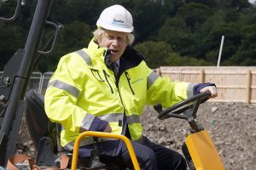
[[[88,130],[119,133],[131,139],[141,168],[186,169],[183,156],[143,136],[140,116],[145,105],[167,107],[206,91],[216,97],[214,84],[171,82],[149,69],[143,55],[131,48],[132,17],[124,7],[104,9],[96,25],[88,48],[61,58],[45,94],[49,119],[62,125],[61,145],[72,151],[79,133]],[[125,144],[98,140],[85,138],[79,156],[90,156],[97,142],[103,159],[132,167]]]

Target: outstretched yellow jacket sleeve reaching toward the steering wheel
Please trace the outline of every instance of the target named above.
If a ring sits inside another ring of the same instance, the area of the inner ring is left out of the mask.
[[[172,82],[168,77],[160,77],[148,68],[148,105],[175,105],[191,97],[194,86],[195,84],[189,82]]]

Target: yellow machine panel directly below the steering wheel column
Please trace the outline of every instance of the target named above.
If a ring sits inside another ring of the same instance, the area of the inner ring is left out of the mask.
[[[207,130],[189,134],[186,145],[196,170],[225,169]]]

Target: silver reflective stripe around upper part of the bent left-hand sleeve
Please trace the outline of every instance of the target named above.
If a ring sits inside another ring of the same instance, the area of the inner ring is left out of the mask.
[[[55,80],[53,82],[49,82],[47,88],[49,88],[49,86],[53,86],[55,88],[60,88],[60,89],[62,89],[64,91],[66,91],[68,94],[72,94],[73,97],[79,98],[80,90],[78,88],[76,88],[76,87],[73,87],[70,84],[67,84],[66,82],[61,82],[59,80]]]

